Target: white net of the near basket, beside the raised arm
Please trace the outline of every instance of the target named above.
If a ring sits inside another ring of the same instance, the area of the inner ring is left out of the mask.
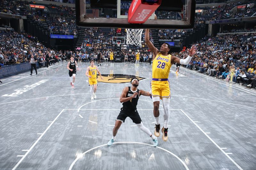
[[[128,28],[126,28],[126,33],[127,33],[126,44],[141,46],[142,32],[143,32],[143,29],[128,29]]]

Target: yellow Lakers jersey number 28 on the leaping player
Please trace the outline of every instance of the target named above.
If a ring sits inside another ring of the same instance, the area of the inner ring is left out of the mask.
[[[168,78],[171,64],[172,55],[162,55],[160,52],[152,63],[152,78]]]

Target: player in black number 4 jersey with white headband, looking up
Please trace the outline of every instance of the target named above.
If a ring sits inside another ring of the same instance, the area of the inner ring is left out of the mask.
[[[123,103],[123,107],[121,108],[121,111],[116,118],[116,124],[113,128],[113,137],[108,142],[108,146],[111,146],[113,142],[116,141],[116,134],[118,129],[120,128],[121,124],[125,121],[126,117],[130,117],[132,119],[132,122],[134,122],[139,129],[141,129],[143,132],[145,132],[148,136],[151,137],[151,139],[153,140],[153,145],[154,147],[156,147],[158,144],[157,137],[155,137],[150,132],[150,130],[143,125],[140,119],[140,115],[137,111],[137,103],[140,95],[151,96],[151,94],[144,90],[137,89],[139,85],[139,80],[137,78],[132,78],[131,83],[131,87],[124,87],[123,92],[120,96],[120,102]]]

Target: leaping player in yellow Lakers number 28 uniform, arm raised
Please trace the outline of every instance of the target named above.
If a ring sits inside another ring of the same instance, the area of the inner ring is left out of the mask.
[[[152,81],[151,91],[154,103],[154,117],[156,122],[155,135],[160,136],[160,124],[159,124],[159,103],[160,99],[163,100],[164,106],[164,126],[162,128],[163,140],[167,141],[168,136],[168,122],[169,122],[169,105],[170,105],[170,85],[168,81],[169,71],[173,63],[179,63],[187,65],[192,56],[196,53],[196,47],[193,45],[191,49],[188,49],[189,55],[186,59],[180,59],[176,56],[170,55],[170,45],[167,43],[162,44],[160,51],[154,47],[152,42],[149,40],[149,29],[145,31],[145,42],[153,53],[153,64],[152,64]]]

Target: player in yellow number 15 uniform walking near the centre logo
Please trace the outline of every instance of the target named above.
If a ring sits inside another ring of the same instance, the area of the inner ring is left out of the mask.
[[[97,66],[94,65],[94,60],[90,61],[91,65],[87,67],[85,75],[89,77],[89,85],[90,85],[90,92],[91,92],[91,100],[96,99],[96,90],[97,90],[97,72],[100,75],[100,78],[103,80],[100,71]]]

